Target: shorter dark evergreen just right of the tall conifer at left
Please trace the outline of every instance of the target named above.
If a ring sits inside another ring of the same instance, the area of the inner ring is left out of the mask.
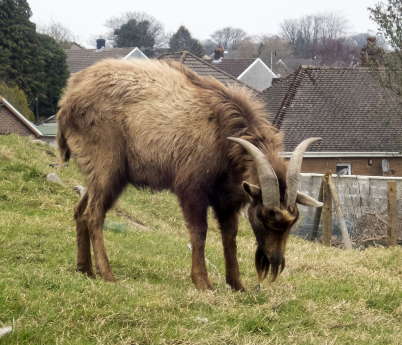
[[[66,86],[69,72],[66,54],[56,40],[45,34],[38,34],[40,55],[45,61],[44,94],[39,95],[39,116],[48,118],[58,111],[62,89]]]

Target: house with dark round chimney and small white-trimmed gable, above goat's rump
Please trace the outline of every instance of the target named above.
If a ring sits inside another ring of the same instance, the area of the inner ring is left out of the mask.
[[[135,48],[105,48],[105,40],[96,40],[96,49],[66,49],[66,63],[70,73],[78,72],[86,67],[92,66],[95,62],[104,59],[128,59],[148,57],[137,47]]]

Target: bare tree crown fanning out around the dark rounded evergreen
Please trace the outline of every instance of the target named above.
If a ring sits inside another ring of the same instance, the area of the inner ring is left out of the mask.
[[[110,29],[108,39],[115,43],[115,30],[118,30],[122,25],[128,23],[130,20],[135,19],[138,23],[148,22],[149,28],[147,30],[147,35],[154,38],[155,44],[154,48],[161,48],[167,44],[169,41],[168,36],[165,34],[163,24],[159,22],[155,17],[145,13],[145,12],[126,12],[120,17],[111,17],[105,23],[105,26]],[[114,45],[114,44],[112,44]]]

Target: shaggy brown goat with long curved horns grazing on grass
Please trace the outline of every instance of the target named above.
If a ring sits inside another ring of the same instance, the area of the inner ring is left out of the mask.
[[[128,183],[177,195],[192,245],[191,279],[198,289],[212,289],[204,257],[209,206],[220,225],[226,281],[245,290],[236,253],[242,206],[251,203],[259,280],[271,266],[274,281],[279,266],[281,271],[285,266],[296,202],[321,205],[297,192],[303,154],[317,138],[300,144],[288,169],[278,157],[281,134],[265,120],[259,102],[173,61],[106,60],[75,73],[57,119],[62,161],[73,154],[87,176],[87,192],[74,207],[74,218],[77,269],[90,277],[95,276],[92,242],[96,273],[115,281],[103,224]]]

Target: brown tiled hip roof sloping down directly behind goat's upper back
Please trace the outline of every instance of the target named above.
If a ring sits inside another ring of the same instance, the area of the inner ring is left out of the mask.
[[[255,88],[237,80],[233,75],[222,71],[221,69],[215,67],[213,64],[208,63],[207,60],[200,59],[199,57],[191,54],[189,52],[178,52],[178,53],[166,53],[163,54],[159,59],[171,59],[182,63],[185,67],[191,69],[195,73],[201,76],[213,76],[218,79],[224,85],[240,85],[249,88],[254,95],[260,96],[261,92]]]

